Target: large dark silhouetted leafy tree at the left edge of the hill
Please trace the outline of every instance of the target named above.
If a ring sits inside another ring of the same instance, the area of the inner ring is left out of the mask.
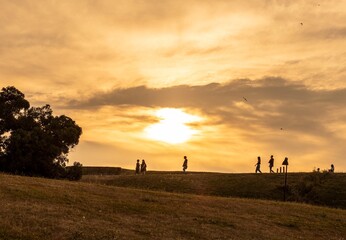
[[[66,177],[68,153],[78,144],[81,134],[82,129],[71,118],[53,116],[50,105],[30,107],[18,89],[2,88],[0,171]]]

